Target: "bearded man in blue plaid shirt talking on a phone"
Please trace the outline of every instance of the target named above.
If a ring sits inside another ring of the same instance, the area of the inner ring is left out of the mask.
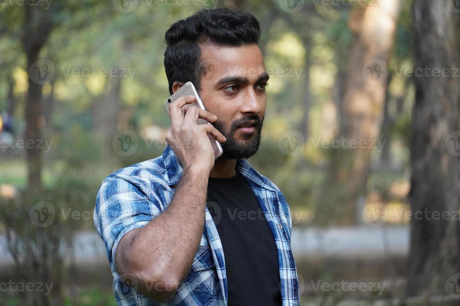
[[[228,8],[166,32],[171,95],[192,81],[207,111],[183,115],[194,97],[174,101],[163,155],[98,191],[94,222],[118,305],[299,305],[288,204],[246,161],[259,148],[269,78],[259,39],[257,19]],[[208,134],[224,150],[217,160]]]

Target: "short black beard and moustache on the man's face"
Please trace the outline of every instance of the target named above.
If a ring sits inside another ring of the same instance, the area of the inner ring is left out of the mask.
[[[241,140],[235,139],[235,132],[236,129],[244,122],[249,120],[254,121],[254,129],[255,131],[251,134],[243,133]],[[220,157],[226,157],[231,159],[238,159],[238,158],[249,158],[256,154],[257,150],[259,150],[260,146],[260,139],[262,138],[262,125],[264,123],[264,118],[260,119],[259,116],[251,116],[245,117],[240,120],[237,120],[232,123],[230,127],[230,131],[225,131],[224,129],[224,122],[217,121],[213,123],[213,126],[222,133],[225,138],[227,139],[226,142],[220,145],[222,146],[222,150],[224,153]],[[252,138],[252,140],[251,140]]]

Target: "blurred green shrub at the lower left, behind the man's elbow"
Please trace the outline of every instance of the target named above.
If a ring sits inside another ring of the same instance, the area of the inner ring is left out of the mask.
[[[14,259],[16,281],[54,284],[49,295],[20,295],[23,304],[61,304],[64,258],[74,232],[92,221],[93,197],[84,183],[62,180],[55,188],[20,190],[14,198],[0,198],[0,231]]]

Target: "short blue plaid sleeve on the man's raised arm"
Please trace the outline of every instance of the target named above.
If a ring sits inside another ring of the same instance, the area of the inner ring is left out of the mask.
[[[121,238],[157,217],[161,213],[160,203],[153,189],[131,175],[115,172],[104,179],[93,218],[112,271],[116,270],[115,253]]]

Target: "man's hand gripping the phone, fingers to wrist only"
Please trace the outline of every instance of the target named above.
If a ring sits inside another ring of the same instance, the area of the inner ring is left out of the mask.
[[[184,169],[194,167],[198,171],[209,173],[214,167],[214,150],[207,134],[221,143],[227,139],[210,124],[196,124],[198,118],[216,122],[217,117],[209,111],[190,106],[185,116],[182,116],[181,108],[194,101],[194,96],[184,96],[169,105],[171,127],[165,140]]]

